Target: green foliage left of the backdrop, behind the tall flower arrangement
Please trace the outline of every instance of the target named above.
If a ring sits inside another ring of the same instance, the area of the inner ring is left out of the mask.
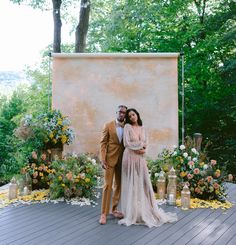
[[[8,99],[0,97],[0,183],[8,182],[25,164],[31,152],[38,148],[35,140],[25,144],[15,136],[21,119],[28,114],[36,116],[48,109],[48,70],[28,68],[26,72],[31,85],[17,87]]]

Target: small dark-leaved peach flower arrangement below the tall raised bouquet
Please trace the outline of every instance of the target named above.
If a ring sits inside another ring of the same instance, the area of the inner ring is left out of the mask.
[[[29,173],[32,179],[32,190],[48,189],[49,174],[53,173],[51,162],[48,161],[46,154],[38,157],[36,152],[32,152],[29,163],[21,169],[21,174]]]

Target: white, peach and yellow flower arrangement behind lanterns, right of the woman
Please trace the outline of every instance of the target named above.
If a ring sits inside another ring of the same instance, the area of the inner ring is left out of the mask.
[[[156,185],[160,170],[167,173],[170,166],[176,170],[179,191],[187,183],[192,197],[206,200],[225,199],[222,171],[216,160],[207,161],[195,148],[186,148],[184,145],[164,149],[157,160],[149,161],[153,185]]]

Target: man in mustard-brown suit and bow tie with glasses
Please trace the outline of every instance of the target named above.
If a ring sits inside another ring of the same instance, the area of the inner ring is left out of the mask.
[[[121,163],[124,151],[123,127],[127,107],[119,105],[116,112],[116,120],[105,124],[100,141],[100,157],[104,169],[104,186],[102,193],[101,217],[99,223],[106,224],[106,218],[110,211],[110,199],[114,178],[114,190],[112,197],[112,215],[123,218],[123,214],[117,210],[121,190]]]

